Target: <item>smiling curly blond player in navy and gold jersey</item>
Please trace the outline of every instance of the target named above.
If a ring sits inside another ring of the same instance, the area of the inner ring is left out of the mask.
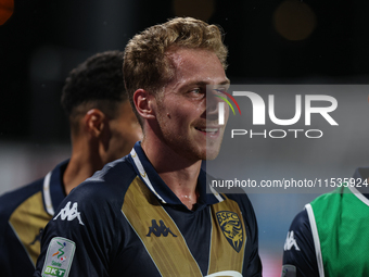
[[[249,198],[206,193],[201,171],[224,135],[206,85],[227,88],[226,56],[219,28],[189,17],[128,42],[124,77],[142,142],[63,201],[34,276],[262,275]]]

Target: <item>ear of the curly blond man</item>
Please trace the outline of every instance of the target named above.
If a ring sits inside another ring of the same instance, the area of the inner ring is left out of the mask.
[[[139,115],[145,119],[155,118],[155,97],[144,89],[138,89],[133,93],[133,103]]]

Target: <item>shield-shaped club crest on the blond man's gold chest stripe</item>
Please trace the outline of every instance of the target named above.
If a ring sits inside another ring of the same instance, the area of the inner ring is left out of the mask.
[[[237,251],[240,252],[244,235],[242,224],[239,215],[229,211],[221,211],[216,213],[222,235],[225,235],[229,244]]]

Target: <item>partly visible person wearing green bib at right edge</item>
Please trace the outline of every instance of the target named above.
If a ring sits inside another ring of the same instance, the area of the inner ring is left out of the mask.
[[[293,219],[282,277],[369,276],[369,167],[326,193]]]

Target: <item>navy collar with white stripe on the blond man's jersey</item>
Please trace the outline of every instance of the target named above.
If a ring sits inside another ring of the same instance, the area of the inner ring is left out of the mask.
[[[133,164],[137,175],[140,176],[141,180],[162,203],[183,205],[177,196],[171,191],[171,189],[169,189],[164,182],[161,176],[158,176],[143,152],[140,141],[136,142],[129,154],[129,159]],[[206,186],[211,188],[212,193],[206,193]],[[215,204],[224,201],[224,198],[206,181],[206,173],[203,169],[200,171],[198,188],[200,192],[200,199],[196,211],[208,204]]]

